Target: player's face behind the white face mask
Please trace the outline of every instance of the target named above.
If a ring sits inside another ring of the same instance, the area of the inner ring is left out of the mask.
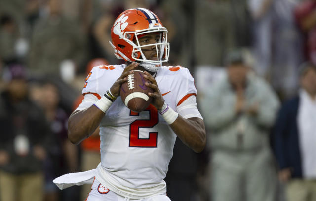
[[[142,45],[160,43],[161,38],[162,38],[162,33],[148,33],[146,35],[141,36],[138,40],[139,40],[139,44],[142,46]],[[158,47],[157,48],[158,55],[160,55],[160,45],[158,45],[157,47]],[[141,49],[147,60],[160,59],[158,58],[159,56],[157,55],[156,45],[146,46]]]

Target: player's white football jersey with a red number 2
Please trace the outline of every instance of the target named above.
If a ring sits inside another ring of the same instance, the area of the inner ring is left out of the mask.
[[[94,67],[86,78],[82,94],[99,99],[113,85],[126,65]],[[176,110],[191,95],[197,95],[194,79],[184,67],[161,67],[155,76],[166,103]],[[130,111],[121,98],[110,106],[100,123],[101,168],[111,186],[150,189],[161,185],[172,157],[176,134],[157,109]],[[164,185],[165,190],[165,185]],[[115,191],[115,190],[113,190]],[[116,192],[121,193],[121,192]]]

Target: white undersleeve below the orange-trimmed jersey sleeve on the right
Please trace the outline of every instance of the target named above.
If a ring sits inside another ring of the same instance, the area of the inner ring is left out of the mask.
[[[179,106],[177,106],[176,112],[178,112],[179,115],[185,119],[192,117],[203,119],[202,115],[197,109],[196,96],[190,96],[186,100],[184,100]]]

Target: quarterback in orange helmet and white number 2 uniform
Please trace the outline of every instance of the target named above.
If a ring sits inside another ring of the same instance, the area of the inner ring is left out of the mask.
[[[100,127],[101,163],[94,170],[54,180],[61,189],[92,182],[87,201],[170,201],[164,178],[176,137],[201,152],[206,144],[197,110],[194,79],[187,68],[168,61],[167,29],[145,8],[121,13],[111,30],[114,53],[126,65],[94,67],[85,79],[84,99],[69,117],[68,138],[78,144]],[[151,105],[136,113],[120,96],[134,70],[145,72]],[[181,167],[179,167],[181,168]]]

